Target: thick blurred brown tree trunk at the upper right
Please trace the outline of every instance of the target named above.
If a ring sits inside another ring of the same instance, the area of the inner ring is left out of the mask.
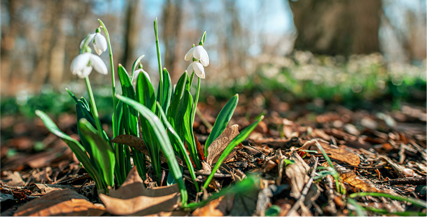
[[[379,52],[381,0],[290,2],[298,32],[295,49],[345,55]]]

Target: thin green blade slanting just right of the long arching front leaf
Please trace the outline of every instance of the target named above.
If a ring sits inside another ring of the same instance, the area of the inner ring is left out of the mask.
[[[184,156],[185,164],[187,165],[188,170],[190,171],[190,176],[193,179],[194,185],[196,186],[196,190],[198,192],[199,191],[199,185],[196,182],[196,173],[194,171],[193,164],[191,163],[190,156],[188,156],[188,153],[185,150],[185,146],[182,143],[182,140],[179,138],[179,135],[175,132],[175,129],[173,129],[172,125],[167,120],[166,115],[163,112],[163,110],[161,110],[161,106],[159,103],[157,103],[157,109],[159,109],[159,111],[160,111],[161,119],[162,119],[163,124],[165,125],[165,127],[168,131],[168,135],[169,135],[171,142],[176,144],[176,146],[179,148],[179,150],[181,151],[181,153]]]

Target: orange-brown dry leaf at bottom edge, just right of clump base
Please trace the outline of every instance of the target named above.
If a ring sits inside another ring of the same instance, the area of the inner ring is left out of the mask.
[[[192,213],[193,216],[224,216],[233,206],[234,196],[226,195],[212,200],[205,206],[197,208]]]

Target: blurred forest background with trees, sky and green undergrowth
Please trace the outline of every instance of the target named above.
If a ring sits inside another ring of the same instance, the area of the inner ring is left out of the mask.
[[[84,93],[69,68],[98,18],[115,64],[130,68],[145,54],[144,69],[156,80],[155,17],[174,81],[187,67],[186,51],[207,31],[203,100],[244,92],[261,96],[259,104],[388,97],[393,106],[425,106],[424,0],[1,0],[2,114],[51,103],[49,94],[64,95],[65,87]],[[108,54],[101,57],[109,66]],[[110,76],[91,76],[100,88],[110,84]]]

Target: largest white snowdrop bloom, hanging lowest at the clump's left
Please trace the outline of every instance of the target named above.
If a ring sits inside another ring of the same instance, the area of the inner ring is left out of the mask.
[[[104,61],[95,54],[79,54],[73,59],[73,62],[71,62],[71,72],[73,75],[78,75],[80,78],[87,77],[92,72],[92,69],[104,75],[108,73]]]

